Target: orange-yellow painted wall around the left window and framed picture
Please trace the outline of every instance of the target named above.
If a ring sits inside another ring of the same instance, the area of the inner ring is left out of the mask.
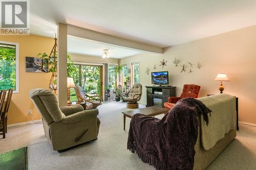
[[[29,99],[29,91],[33,88],[46,88],[50,81],[50,73],[26,72],[25,57],[36,57],[38,53],[50,54],[54,45],[53,38],[41,36],[0,36],[0,41],[19,43],[19,93],[12,95],[8,113],[8,124],[31,121],[28,110],[33,110],[33,119],[41,116]]]

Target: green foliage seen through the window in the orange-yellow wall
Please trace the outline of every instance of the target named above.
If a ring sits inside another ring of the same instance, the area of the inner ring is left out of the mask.
[[[0,46],[0,90],[16,87],[15,45],[5,46]]]

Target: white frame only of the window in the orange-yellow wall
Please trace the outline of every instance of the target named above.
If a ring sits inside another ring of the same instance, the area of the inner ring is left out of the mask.
[[[15,90],[13,93],[19,93],[19,43],[0,41],[2,44],[15,45]]]

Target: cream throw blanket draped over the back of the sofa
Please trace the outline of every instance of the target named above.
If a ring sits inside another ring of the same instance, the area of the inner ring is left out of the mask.
[[[204,150],[210,150],[225,134],[236,128],[236,97],[229,94],[211,95],[199,98],[211,111],[209,125],[206,126],[201,115],[200,131]]]

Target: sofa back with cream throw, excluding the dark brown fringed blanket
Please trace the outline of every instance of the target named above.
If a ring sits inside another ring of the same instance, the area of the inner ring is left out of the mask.
[[[211,111],[208,127],[200,117],[200,128],[195,145],[195,170],[205,169],[237,136],[236,97],[228,94],[199,98]]]

